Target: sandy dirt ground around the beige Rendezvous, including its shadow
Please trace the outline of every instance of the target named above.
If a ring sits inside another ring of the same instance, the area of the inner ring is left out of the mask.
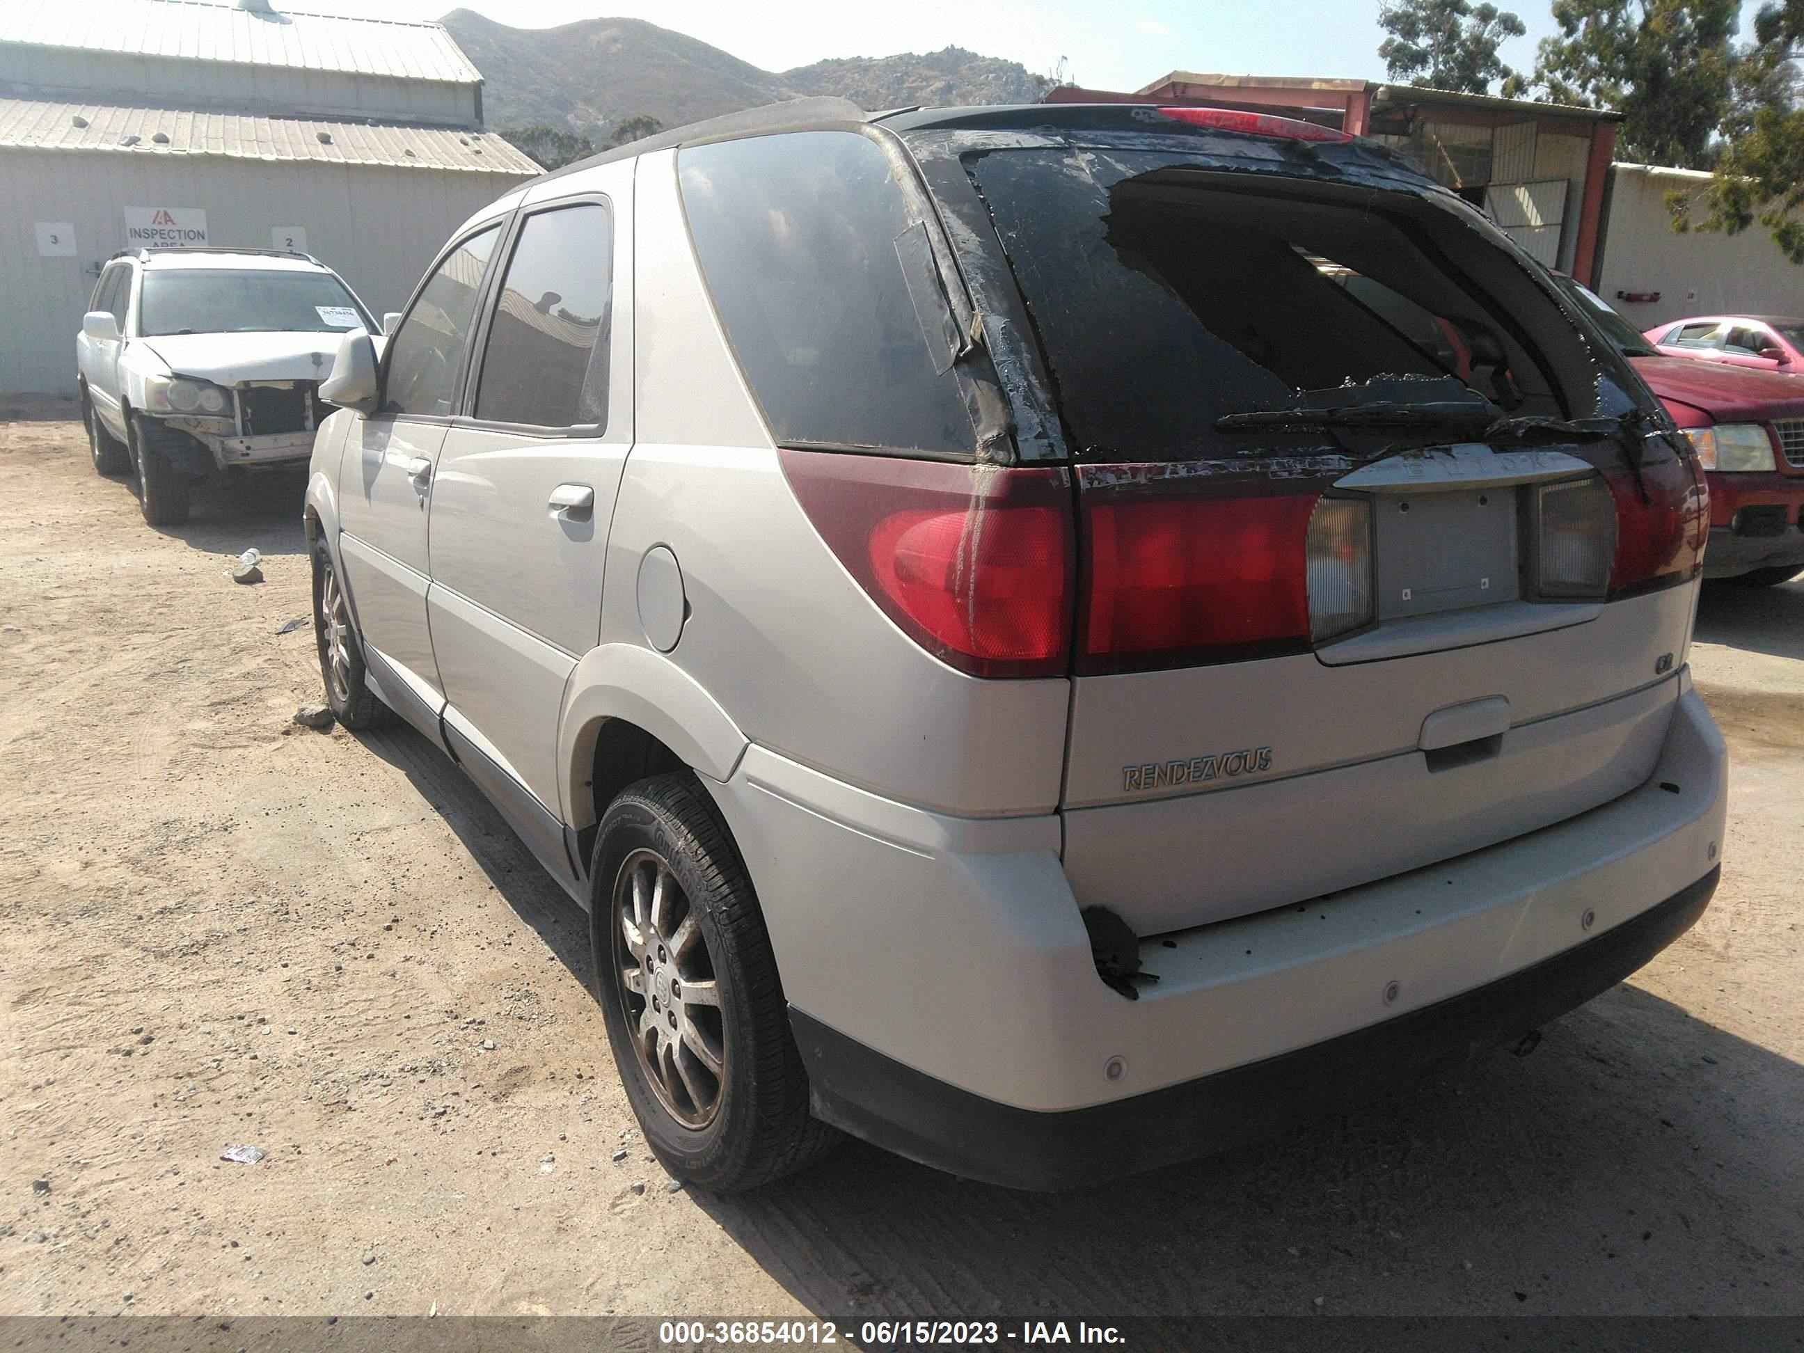
[[[1090,1192],[848,1146],[727,1200],[666,1187],[581,913],[449,761],[290,727],[299,478],[152,530],[11,415],[0,1313],[1804,1312],[1804,583],[1703,603],[1714,906],[1535,1055]]]

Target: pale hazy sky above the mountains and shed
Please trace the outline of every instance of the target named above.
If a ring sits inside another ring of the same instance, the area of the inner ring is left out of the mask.
[[[370,18],[437,18],[455,7],[455,0],[276,0],[278,9],[289,4]],[[956,43],[1041,74],[1063,56],[1070,78],[1091,88],[1133,90],[1174,69],[1384,78],[1378,0],[465,0],[465,7],[534,29],[599,14],[644,18],[767,70]],[[1505,60],[1532,67],[1535,40],[1553,32],[1548,0],[1501,7],[1528,25],[1526,38],[1505,45]]]

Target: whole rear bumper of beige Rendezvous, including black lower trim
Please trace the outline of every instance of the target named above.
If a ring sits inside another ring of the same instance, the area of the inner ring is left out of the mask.
[[[1158,981],[1129,1001],[1097,976],[1057,819],[924,814],[758,747],[711,788],[767,898],[814,1111],[1023,1189],[1205,1155],[1533,1030],[1696,920],[1726,817],[1723,740],[1681,673],[1640,788],[1331,898],[1142,936]]]

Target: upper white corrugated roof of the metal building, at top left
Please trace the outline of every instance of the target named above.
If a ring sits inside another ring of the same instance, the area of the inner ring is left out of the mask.
[[[440,23],[254,11],[207,0],[5,0],[0,41],[473,85]]]

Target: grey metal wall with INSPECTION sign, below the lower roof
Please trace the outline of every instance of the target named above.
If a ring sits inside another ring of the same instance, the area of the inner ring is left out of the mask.
[[[399,310],[473,211],[527,175],[198,155],[0,150],[0,395],[72,393],[76,328],[126,207],[200,207],[215,245],[271,245],[301,226],[308,253],[372,310]],[[41,256],[34,222],[74,226],[72,258]]]

